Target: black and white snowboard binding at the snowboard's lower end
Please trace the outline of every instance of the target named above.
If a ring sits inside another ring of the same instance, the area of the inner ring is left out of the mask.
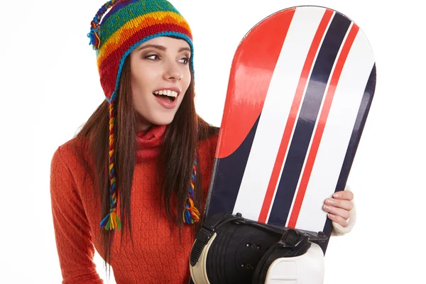
[[[317,243],[326,240],[322,232],[214,214],[192,246],[191,277],[195,284],[320,284],[324,254]]]

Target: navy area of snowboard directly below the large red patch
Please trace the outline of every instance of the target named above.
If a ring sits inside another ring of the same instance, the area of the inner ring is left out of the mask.
[[[214,191],[209,190],[206,202],[208,207],[204,212],[204,220],[216,213],[231,214],[233,212],[260,117],[261,114],[256,119],[243,143],[234,153],[226,158],[215,158],[212,173],[214,180],[212,180],[213,183],[210,185],[210,188],[214,188]],[[215,174],[216,168],[219,167],[220,174]],[[241,214],[244,216],[244,212],[241,212]]]

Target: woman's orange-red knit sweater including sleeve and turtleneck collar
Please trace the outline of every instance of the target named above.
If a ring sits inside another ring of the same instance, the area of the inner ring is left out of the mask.
[[[164,128],[156,127],[137,136],[137,163],[131,193],[134,246],[129,241],[120,246],[121,231],[114,232],[111,251],[111,266],[118,284],[186,284],[190,278],[189,257],[194,241],[190,226],[182,229],[180,242],[178,229],[170,230],[165,212],[159,209],[163,200],[154,177],[163,132]],[[92,180],[83,179],[84,168],[78,162],[73,143],[75,140],[60,146],[51,163],[50,192],[62,283],[103,283],[92,261],[94,249],[102,256],[100,200],[94,195]],[[217,134],[198,143],[198,165],[206,193],[216,146]]]

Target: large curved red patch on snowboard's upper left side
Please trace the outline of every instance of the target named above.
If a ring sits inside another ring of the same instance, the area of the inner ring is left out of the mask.
[[[259,23],[236,50],[229,75],[217,158],[234,153],[260,116],[294,13],[295,9],[288,9]]]

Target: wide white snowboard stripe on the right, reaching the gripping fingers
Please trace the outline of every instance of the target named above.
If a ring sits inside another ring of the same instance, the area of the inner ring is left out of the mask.
[[[324,229],[327,212],[323,211],[322,206],[336,188],[364,89],[374,65],[373,54],[368,48],[368,40],[359,30],[335,90],[296,228],[310,231]]]

